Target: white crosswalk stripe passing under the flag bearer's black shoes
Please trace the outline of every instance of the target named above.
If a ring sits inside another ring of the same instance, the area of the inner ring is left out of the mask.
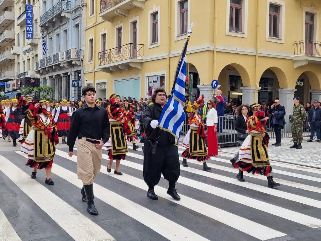
[[[67,153],[57,150],[56,155],[68,158],[69,160],[72,160],[74,162],[77,162],[77,157],[69,157]],[[103,158],[108,157],[107,155],[103,154]],[[124,165],[128,165],[129,162],[122,160],[122,163]],[[136,164],[139,165],[139,164]],[[142,169],[142,165],[139,165],[139,169]],[[102,166],[100,172],[108,175],[106,171],[106,166]],[[60,172],[59,172],[60,173]],[[129,183],[131,185],[134,185],[140,189],[146,190],[147,186],[145,182],[142,179],[138,179],[134,176],[130,176],[127,174],[124,174],[119,177],[118,175],[110,175],[111,177],[117,178],[120,181]],[[155,191],[157,192],[157,195],[168,199],[170,201],[176,202],[179,205],[182,205],[188,209],[194,210],[204,216],[207,216],[211,219],[217,220],[223,224],[226,224],[232,228],[238,229],[241,232],[244,232],[248,235],[251,235],[252,237],[256,237],[260,240],[266,240],[266,239],[271,239],[275,237],[282,237],[285,236],[286,234],[279,232],[277,230],[274,230],[272,228],[268,228],[264,225],[258,224],[256,222],[253,222],[251,220],[245,219],[243,217],[239,217],[235,214],[229,213],[227,211],[221,210],[219,208],[213,207],[211,205],[208,205],[206,203],[197,201],[195,199],[189,198],[187,196],[181,195],[181,200],[180,201],[175,201],[172,198],[169,197],[169,195],[166,193],[166,189],[162,188],[160,186],[155,187]],[[242,223],[243,225],[238,225],[239,223]],[[318,227],[321,227],[321,220],[320,220],[320,225]]]

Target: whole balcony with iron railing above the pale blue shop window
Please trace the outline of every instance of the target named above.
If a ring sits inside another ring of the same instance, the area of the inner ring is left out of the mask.
[[[128,43],[98,53],[98,64],[103,72],[120,72],[131,67],[142,68],[144,45]]]

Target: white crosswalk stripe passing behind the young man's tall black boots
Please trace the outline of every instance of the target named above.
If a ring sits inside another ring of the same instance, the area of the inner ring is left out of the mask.
[[[16,152],[27,158],[24,153]],[[63,157],[68,158],[76,162],[77,157],[69,157],[67,153],[56,149],[56,155],[60,156],[60,154],[64,154]],[[77,174],[55,164],[54,168],[52,168],[52,173],[60,176],[65,179],[67,182],[74,184],[75,186],[81,188],[82,183],[78,179]],[[181,241],[181,240],[198,240],[198,241],[209,241],[208,239],[196,234],[195,232],[184,228],[177,223],[155,213],[143,206],[130,201],[115,192],[111,192],[110,190],[94,183],[94,195],[95,198],[104,201],[108,205],[116,208],[117,210],[125,213],[133,219],[136,219],[140,223],[144,224],[148,228],[156,231],[163,237],[172,240],[172,241]],[[79,197],[79,200],[81,197]],[[98,208],[98,207],[97,207]],[[90,240],[92,239],[82,239],[82,240]]]

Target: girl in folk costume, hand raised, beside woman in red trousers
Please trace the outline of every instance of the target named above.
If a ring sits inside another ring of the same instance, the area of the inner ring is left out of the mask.
[[[202,104],[204,100],[204,95],[200,96],[197,101],[194,102],[191,112],[187,115],[188,123],[190,129],[184,138],[182,146],[186,148],[182,153],[184,167],[188,167],[186,159],[196,159],[199,162],[203,162],[203,170],[209,171],[211,167],[208,167],[206,160],[210,158],[207,155],[206,148],[206,135],[205,135],[205,125],[202,116],[197,114],[198,107]]]

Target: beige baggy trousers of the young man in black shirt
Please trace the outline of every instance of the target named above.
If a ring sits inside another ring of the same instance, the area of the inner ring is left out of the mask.
[[[88,138],[89,139],[89,138]],[[78,139],[77,144],[77,175],[84,185],[92,184],[100,172],[102,148],[97,149],[95,144]]]

